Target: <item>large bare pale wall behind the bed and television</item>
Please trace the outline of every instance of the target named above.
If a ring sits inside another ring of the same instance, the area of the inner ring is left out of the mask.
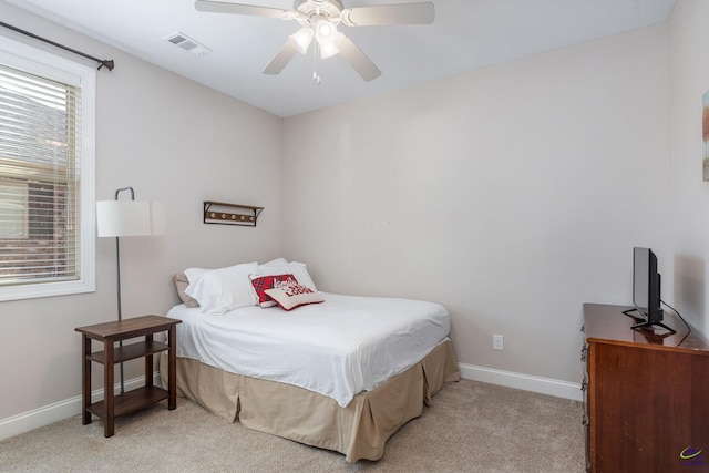
[[[286,253],[320,289],[435,300],[459,361],[579,382],[582,305],[668,248],[656,25],[286,120]],[[492,335],[505,350],[492,350]]]

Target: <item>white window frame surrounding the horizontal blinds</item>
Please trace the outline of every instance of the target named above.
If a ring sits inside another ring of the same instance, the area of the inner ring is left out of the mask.
[[[0,286],[0,301],[93,292],[95,269],[95,106],[96,70],[70,59],[0,35],[0,63],[43,78],[79,85],[81,109],[81,189],[78,254],[79,278]]]

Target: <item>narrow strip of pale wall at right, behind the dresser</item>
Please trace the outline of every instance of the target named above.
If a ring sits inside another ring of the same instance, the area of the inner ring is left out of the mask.
[[[674,297],[697,329],[709,332],[709,183],[701,176],[701,99],[709,90],[709,2],[678,0],[670,21]]]

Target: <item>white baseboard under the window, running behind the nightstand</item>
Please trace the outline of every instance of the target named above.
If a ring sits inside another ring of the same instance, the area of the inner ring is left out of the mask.
[[[155,371],[153,373],[153,383],[161,385],[160,373]],[[143,377],[126,380],[124,382],[125,390],[132,390],[145,384]],[[114,387],[114,393],[121,392],[121,385]],[[103,389],[97,389],[91,393],[91,402],[97,402],[103,399]],[[9,439],[20,433],[29,432],[33,429],[49,425],[51,423],[61,421],[73,415],[81,414],[81,395],[76,395],[64,401],[55,402],[53,404],[44,405],[32,411],[23,412],[11,418],[0,420],[0,440]],[[76,420],[81,422],[81,420]]]

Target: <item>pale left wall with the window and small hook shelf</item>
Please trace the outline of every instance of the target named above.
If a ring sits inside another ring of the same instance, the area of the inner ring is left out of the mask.
[[[280,256],[281,119],[2,2],[0,18],[115,60],[97,73],[96,198],[133,186],[168,213],[165,236],[122,239],[124,317],[165,313],[177,300],[172,276],[185,267]],[[265,210],[256,228],[204,225],[203,200]],[[95,292],[0,302],[0,421],[81,394],[74,328],[116,316],[115,240],[97,239],[96,253]],[[141,372],[142,361],[132,363],[126,379]]]

